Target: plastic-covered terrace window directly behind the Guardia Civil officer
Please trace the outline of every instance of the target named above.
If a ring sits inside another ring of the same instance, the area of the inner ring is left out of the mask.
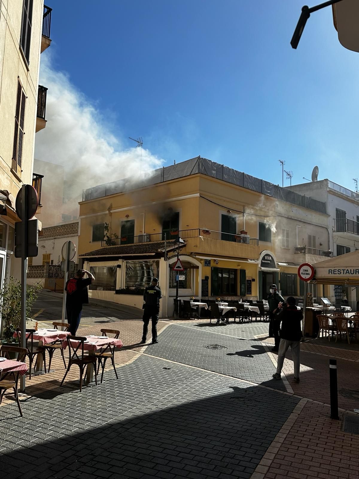
[[[158,260],[126,261],[125,289],[143,289],[149,286],[152,278],[158,278]]]

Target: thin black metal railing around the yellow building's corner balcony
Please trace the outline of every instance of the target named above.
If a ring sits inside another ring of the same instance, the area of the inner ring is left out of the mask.
[[[210,229],[184,229],[179,231],[170,231],[155,233],[152,235],[142,234],[138,236],[124,236],[122,238],[110,238],[101,241],[101,246],[119,246],[120,244],[135,244],[146,243],[154,241],[173,240],[180,237],[181,239],[189,238],[208,238],[222,241],[232,241],[237,243],[249,244],[252,246],[258,246],[258,238],[250,238],[244,235],[235,235],[229,233],[222,233],[221,231],[212,231]]]

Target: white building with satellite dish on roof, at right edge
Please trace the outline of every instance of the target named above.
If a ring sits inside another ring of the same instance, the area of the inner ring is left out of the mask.
[[[297,184],[290,187],[292,191],[302,195],[310,195],[326,205],[329,214],[330,249],[334,256],[350,253],[359,249],[359,194],[344,188],[328,179],[317,182]],[[314,248],[316,245],[314,244]],[[356,311],[359,300],[359,288],[350,285],[332,286],[331,300],[342,299],[350,303]]]

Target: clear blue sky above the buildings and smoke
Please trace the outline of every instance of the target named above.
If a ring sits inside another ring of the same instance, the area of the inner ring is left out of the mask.
[[[339,44],[331,8],[293,50],[304,3],[57,0],[48,51],[123,148],[142,136],[165,164],[201,155],[274,183],[279,159],[293,183],[318,165],[354,189],[359,54]]]

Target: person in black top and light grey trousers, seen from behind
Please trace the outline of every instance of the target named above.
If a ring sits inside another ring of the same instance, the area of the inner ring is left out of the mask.
[[[283,307],[282,307],[283,306]],[[287,299],[287,308],[281,303],[278,305],[280,312],[277,314],[277,320],[281,321],[280,345],[277,361],[277,372],[273,374],[275,379],[280,379],[285,354],[291,347],[294,363],[294,382],[299,383],[300,359],[302,339],[302,319],[303,313],[296,307],[295,298],[290,296]]]

